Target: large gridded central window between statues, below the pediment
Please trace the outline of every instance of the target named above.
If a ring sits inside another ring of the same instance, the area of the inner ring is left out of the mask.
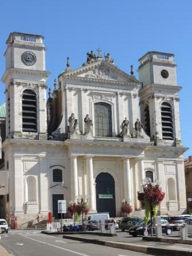
[[[112,137],[111,106],[104,102],[94,104],[96,137]]]

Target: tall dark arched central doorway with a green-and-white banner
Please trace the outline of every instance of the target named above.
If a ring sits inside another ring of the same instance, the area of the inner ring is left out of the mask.
[[[95,182],[97,212],[109,212],[110,217],[116,217],[114,178],[109,173],[100,173]]]

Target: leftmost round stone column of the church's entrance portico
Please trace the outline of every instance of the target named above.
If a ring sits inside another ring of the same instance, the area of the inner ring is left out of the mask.
[[[71,173],[71,200],[78,196],[78,175],[77,175],[77,156],[70,156],[70,173]]]

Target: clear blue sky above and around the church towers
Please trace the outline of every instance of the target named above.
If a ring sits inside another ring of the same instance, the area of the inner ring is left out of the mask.
[[[178,85],[183,89],[180,117],[183,146],[192,155],[191,73],[192,1],[175,0],[9,0],[0,5],[0,76],[5,72],[6,39],[11,32],[40,34],[45,37],[47,86],[66,68],[86,61],[87,51],[98,47],[110,53],[115,65],[137,75],[138,59],[147,51],[173,53],[177,62]],[[0,82],[0,104],[5,101],[5,86]]]

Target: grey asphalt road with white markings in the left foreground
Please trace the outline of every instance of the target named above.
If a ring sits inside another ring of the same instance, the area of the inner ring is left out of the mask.
[[[144,256],[149,254],[63,239],[39,230],[9,230],[1,234],[0,245],[13,256]]]

